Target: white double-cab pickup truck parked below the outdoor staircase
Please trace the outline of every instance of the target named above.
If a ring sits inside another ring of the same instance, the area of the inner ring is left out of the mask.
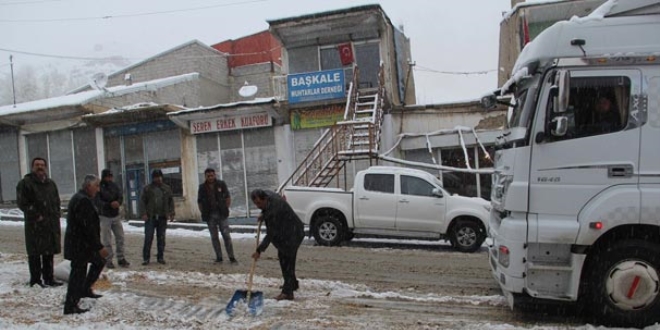
[[[353,237],[446,239],[474,252],[487,236],[490,203],[451,195],[428,172],[373,166],[356,174],[352,191],[288,186],[284,196],[319,245]]]

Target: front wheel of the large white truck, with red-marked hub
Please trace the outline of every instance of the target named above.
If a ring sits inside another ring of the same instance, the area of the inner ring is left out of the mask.
[[[660,248],[628,240],[590,262],[587,308],[606,326],[642,328],[660,321]]]

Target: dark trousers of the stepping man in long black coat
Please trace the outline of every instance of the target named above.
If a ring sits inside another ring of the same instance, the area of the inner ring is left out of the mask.
[[[91,263],[89,272],[87,264]],[[80,299],[92,292],[92,285],[101,276],[105,260],[101,258],[98,252],[94,252],[92,259],[78,258],[71,260],[71,273],[69,274],[69,286],[66,291],[66,300],[64,300],[64,309],[78,306]]]

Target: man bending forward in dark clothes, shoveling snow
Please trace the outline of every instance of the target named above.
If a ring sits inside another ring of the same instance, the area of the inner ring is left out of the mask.
[[[275,297],[275,300],[293,300],[293,291],[298,290],[296,256],[305,238],[304,225],[291,206],[276,193],[255,189],[250,193],[250,198],[254,205],[261,209],[260,221],[266,223],[266,237],[252,254],[252,258],[259,259],[261,253],[273,243],[284,278],[282,293]]]

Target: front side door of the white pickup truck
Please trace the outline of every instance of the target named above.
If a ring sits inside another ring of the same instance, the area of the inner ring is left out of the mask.
[[[445,221],[445,198],[433,195],[436,186],[410,175],[401,175],[397,195],[396,229],[439,233]]]

